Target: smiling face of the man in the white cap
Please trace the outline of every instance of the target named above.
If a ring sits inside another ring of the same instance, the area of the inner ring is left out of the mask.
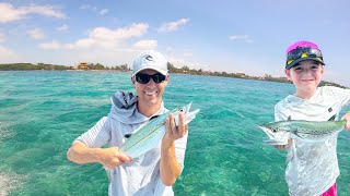
[[[143,70],[139,73],[154,75],[158,72],[154,70]],[[139,103],[152,107],[159,106],[162,102],[162,95],[167,85],[168,75],[166,75],[165,81],[162,83],[154,83],[153,78],[150,78],[147,84],[138,83],[135,77],[131,77],[131,81],[138,94]]]

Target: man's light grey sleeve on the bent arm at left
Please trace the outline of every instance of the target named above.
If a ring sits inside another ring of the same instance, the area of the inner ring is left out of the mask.
[[[110,139],[110,123],[107,117],[102,118],[92,128],[79,136],[73,143],[84,143],[90,148],[100,148]]]

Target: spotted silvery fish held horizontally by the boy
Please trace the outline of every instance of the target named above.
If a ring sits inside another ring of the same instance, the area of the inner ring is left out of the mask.
[[[269,136],[269,140],[264,143],[270,145],[287,145],[288,134],[294,134],[304,139],[325,138],[345,128],[346,120],[340,121],[303,121],[287,120],[277,121],[259,125],[259,127]]]

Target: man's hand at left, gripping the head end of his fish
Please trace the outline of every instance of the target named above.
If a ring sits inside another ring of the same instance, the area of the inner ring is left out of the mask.
[[[104,148],[101,149],[98,154],[98,161],[104,168],[108,169],[114,169],[131,160],[132,159],[119,150],[118,147]]]

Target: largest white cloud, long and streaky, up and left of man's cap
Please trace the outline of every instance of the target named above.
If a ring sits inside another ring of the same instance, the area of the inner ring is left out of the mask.
[[[43,49],[116,49],[118,44],[130,38],[140,37],[147,33],[148,24],[132,24],[125,28],[109,29],[106,27],[96,27],[89,33],[88,38],[79,39],[71,44],[60,44],[58,41],[40,44]]]

